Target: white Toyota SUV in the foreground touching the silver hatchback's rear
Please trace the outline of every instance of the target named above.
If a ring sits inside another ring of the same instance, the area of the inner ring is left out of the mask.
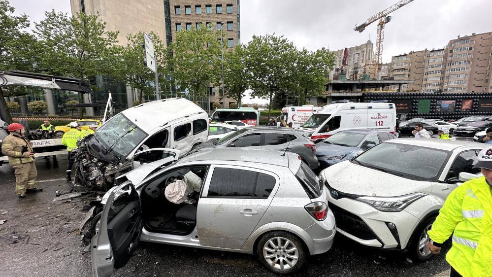
[[[431,228],[447,196],[480,172],[472,169],[486,144],[442,139],[384,141],[323,170],[337,232],[363,245],[432,256]]]

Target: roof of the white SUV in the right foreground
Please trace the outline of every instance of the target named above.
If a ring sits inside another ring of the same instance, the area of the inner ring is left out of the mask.
[[[478,146],[479,148],[484,148],[487,144],[478,143],[472,141],[464,140],[449,140],[449,139],[438,139],[438,138],[396,138],[392,140],[387,140],[386,142],[400,143],[400,144],[410,144],[415,146],[429,147],[435,149],[441,149],[446,151],[453,151],[460,147],[466,146]]]

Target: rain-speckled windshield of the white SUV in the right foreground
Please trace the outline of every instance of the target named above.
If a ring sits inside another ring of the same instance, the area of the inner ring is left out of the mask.
[[[416,181],[437,181],[450,152],[418,145],[383,142],[353,163]]]

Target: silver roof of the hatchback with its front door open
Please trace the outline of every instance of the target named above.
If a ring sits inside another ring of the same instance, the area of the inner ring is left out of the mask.
[[[287,153],[289,154],[289,153]],[[207,148],[180,159],[176,164],[197,161],[253,162],[288,167],[288,155],[282,151],[251,149],[247,147]]]

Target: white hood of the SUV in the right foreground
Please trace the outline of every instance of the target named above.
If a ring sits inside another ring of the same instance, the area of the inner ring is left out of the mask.
[[[328,185],[341,193],[394,197],[415,192],[430,193],[428,181],[415,181],[344,161],[321,172]]]

